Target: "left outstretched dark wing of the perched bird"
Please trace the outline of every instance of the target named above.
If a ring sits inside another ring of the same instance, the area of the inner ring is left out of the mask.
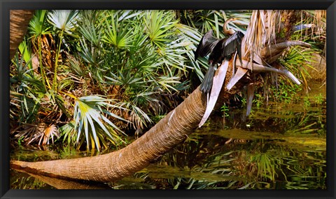
[[[218,42],[218,39],[213,36],[213,30],[209,30],[206,34],[202,36],[202,39],[200,41],[200,44],[198,44],[196,52],[195,52],[195,61],[198,57],[205,57],[209,53],[211,53],[214,46],[216,46],[216,43]]]

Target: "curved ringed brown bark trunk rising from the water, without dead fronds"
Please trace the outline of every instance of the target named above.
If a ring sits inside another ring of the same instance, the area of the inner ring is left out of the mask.
[[[226,80],[230,80],[231,73],[232,71],[228,71],[229,77]],[[241,86],[237,88],[239,90]],[[223,99],[228,99],[228,96],[235,93],[232,90],[230,91],[225,92],[222,89],[221,99],[218,99],[217,105],[221,105]],[[176,144],[183,142],[201,121],[206,108],[204,99],[205,97],[200,92],[200,88],[197,88],[184,102],[167,114],[151,130],[124,149],[101,156],[68,160],[50,160],[35,163],[12,161],[10,166],[14,169],[26,170],[30,173],[60,179],[83,179],[102,182],[121,179],[143,169],[151,161],[176,146]]]

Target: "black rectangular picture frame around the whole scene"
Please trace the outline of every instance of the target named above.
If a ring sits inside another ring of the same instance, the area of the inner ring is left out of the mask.
[[[301,1],[48,1],[1,0],[0,135],[1,198],[335,198],[335,0]],[[325,9],[327,10],[327,189],[326,190],[11,190],[9,187],[9,11],[10,9]]]

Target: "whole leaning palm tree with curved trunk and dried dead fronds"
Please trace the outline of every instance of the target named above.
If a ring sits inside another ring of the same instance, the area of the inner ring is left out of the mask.
[[[232,57],[227,64],[225,80],[216,100],[216,107],[230,99],[237,92],[248,86],[248,112],[251,109],[255,76],[265,73],[281,74],[300,84],[293,74],[274,63],[274,56],[293,45],[307,46],[304,42],[290,42],[293,25],[300,20],[301,11],[253,11],[250,25],[242,40],[242,63],[234,63]],[[285,20],[279,20],[285,19]],[[283,21],[279,24],[278,22]],[[276,36],[276,32],[285,32]],[[281,45],[276,45],[281,43]],[[273,53],[276,53],[274,55]],[[236,60],[235,60],[236,61]],[[273,67],[274,63],[274,67]],[[275,67],[277,66],[277,67]],[[223,67],[223,64],[222,66]],[[236,70],[237,67],[237,70]],[[221,70],[218,69],[215,76]],[[237,72],[234,72],[237,71]],[[239,71],[239,72],[238,72]],[[183,142],[199,125],[207,107],[207,97],[200,88],[165,118],[148,130],[142,137],[124,149],[101,156],[49,160],[28,163],[13,160],[10,166],[33,174],[41,174],[59,179],[78,179],[89,181],[116,181],[148,166],[154,160]]]

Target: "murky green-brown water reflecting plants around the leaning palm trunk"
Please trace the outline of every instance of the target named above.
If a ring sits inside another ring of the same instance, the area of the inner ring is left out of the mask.
[[[325,92],[320,92],[324,98]],[[325,189],[326,109],[325,102],[318,103],[318,95],[313,93],[300,104],[253,107],[248,118],[245,109],[232,109],[225,123],[218,112],[155,163],[107,187]],[[10,153],[11,159],[29,161],[95,155],[97,151],[22,146]],[[14,170],[10,184],[54,188]]]

